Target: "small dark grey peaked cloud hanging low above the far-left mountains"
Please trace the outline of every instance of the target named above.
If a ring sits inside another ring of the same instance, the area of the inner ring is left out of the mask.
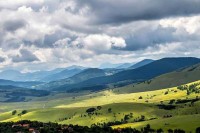
[[[39,61],[39,59],[30,51],[26,49],[21,49],[20,55],[13,56],[12,61],[13,62],[33,62],[33,61]]]

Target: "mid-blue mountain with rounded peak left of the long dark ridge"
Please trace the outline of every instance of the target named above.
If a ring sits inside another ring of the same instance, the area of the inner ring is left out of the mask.
[[[83,71],[81,71],[80,73],[66,78],[66,79],[62,79],[59,81],[53,81],[50,83],[46,83],[43,85],[39,85],[37,88],[46,88],[46,89],[52,89],[52,88],[56,88],[58,86],[62,86],[62,85],[71,85],[71,84],[77,84],[80,83],[82,81],[91,79],[91,78],[95,78],[95,77],[100,77],[100,76],[105,76],[106,72],[102,69],[98,69],[98,68],[88,68],[85,69]]]

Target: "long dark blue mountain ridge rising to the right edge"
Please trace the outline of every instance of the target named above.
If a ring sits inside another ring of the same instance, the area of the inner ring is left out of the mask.
[[[57,86],[57,90],[107,85],[110,83],[117,83],[122,81],[140,82],[178,70],[180,68],[189,67],[197,63],[200,63],[200,59],[192,57],[163,58],[142,67],[124,70],[110,76],[101,76],[96,78],[93,77],[72,85],[63,84],[62,86]]]

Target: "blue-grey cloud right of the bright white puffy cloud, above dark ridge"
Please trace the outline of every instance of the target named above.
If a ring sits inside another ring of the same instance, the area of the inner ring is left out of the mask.
[[[179,39],[173,35],[175,31],[176,29],[169,27],[163,28],[158,26],[156,29],[145,27],[137,31],[135,34],[129,35],[125,38],[127,46],[124,50],[136,51],[160,43],[177,42]]]

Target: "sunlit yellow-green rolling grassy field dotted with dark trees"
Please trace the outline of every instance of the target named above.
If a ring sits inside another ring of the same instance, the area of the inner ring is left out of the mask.
[[[200,83],[200,81],[192,82]],[[200,86],[198,86],[200,87]],[[197,87],[197,88],[198,88]],[[23,119],[38,120],[43,122],[58,122],[62,124],[79,124],[90,126],[92,124],[123,121],[125,115],[130,116],[128,123],[117,127],[141,128],[150,124],[153,128],[181,128],[186,131],[194,131],[200,123],[200,101],[191,105],[191,102],[183,104],[172,104],[175,109],[159,109],[158,104],[169,105],[170,100],[174,99],[195,99],[199,93],[187,95],[186,90],[179,90],[177,87],[128,94],[118,94],[113,90],[106,90],[89,95],[74,96],[69,94],[59,94],[44,98],[34,99],[31,102],[21,103],[1,103],[0,121],[18,121]],[[93,114],[88,115],[88,108],[101,106]],[[109,108],[111,111],[108,111]],[[22,110],[28,113],[18,116],[11,112],[17,110],[19,114]],[[171,115],[170,118],[163,118]],[[145,116],[143,122],[137,122]],[[189,123],[189,124],[188,124]]]

